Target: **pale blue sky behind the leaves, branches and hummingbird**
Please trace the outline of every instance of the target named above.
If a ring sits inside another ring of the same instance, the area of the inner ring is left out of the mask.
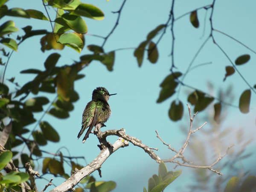
[[[106,2],[105,0],[83,0],[83,2],[92,3],[98,6],[105,13],[105,19],[102,21],[85,18],[88,26],[88,34],[107,35],[112,29],[117,16],[112,14],[111,11],[118,10],[122,1],[110,0],[109,2]],[[189,0],[176,1],[175,17],[197,7],[209,5],[210,3],[212,3],[211,0],[195,0],[193,3]],[[44,12],[41,0],[10,0],[7,5],[9,7],[38,9]],[[216,29],[222,30],[238,38],[252,49],[256,49],[254,38],[256,28],[254,25],[255,22],[253,21],[253,19],[256,18],[255,6],[256,2],[250,0],[216,0],[213,26]],[[119,21],[119,26],[105,44],[105,51],[123,47],[137,47],[137,45],[145,39],[149,31],[161,23],[166,23],[170,7],[171,2],[169,0],[127,0]],[[55,12],[51,12],[53,19]],[[210,11],[208,11],[207,14],[205,35],[200,39],[204,28],[204,13],[205,10],[200,10],[198,12],[200,21],[199,29],[193,28],[189,22],[189,15],[175,23],[175,63],[178,70],[181,72],[186,70],[186,67],[195,52],[208,35],[208,18]],[[32,25],[33,27],[35,26],[34,29],[47,28],[48,30],[51,30],[49,22],[35,19],[4,17],[2,22],[10,19],[15,21],[19,29],[26,25]],[[229,38],[219,34],[216,34],[215,37],[233,61],[239,55],[246,53],[251,55],[251,60],[247,64],[239,66],[239,70],[252,85],[256,84],[254,74],[256,70],[254,64],[256,56]],[[86,35],[85,39],[86,45],[102,44],[102,39],[96,37]],[[70,113],[70,118],[59,120],[49,115],[44,118],[44,120],[51,122],[61,135],[61,141],[59,143],[49,143],[49,145],[45,147],[45,150],[55,152],[61,146],[66,146],[69,148],[72,155],[84,155],[88,162],[96,157],[99,153],[99,149],[96,146],[96,137],[90,135],[86,143],[82,144],[81,140],[77,140],[76,136],[81,126],[82,111],[87,102],[90,101],[93,89],[98,86],[103,86],[106,87],[110,93],[118,93],[116,96],[111,97],[109,101],[112,115],[106,123],[106,128],[125,128],[127,134],[139,138],[146,145],[160,148],[160,151],[158,152],[160,157],[171,157],[172,153],[163,147],[160,141],[155,137],[154,132],[154,130],[158,130],[163,139],[176,148],[178,148],[185,139],[184,135],[181,134],[179,127],[181,124],[188,122],[188,120],[185,119],[187,117],[186,106],[184,107],[185,117],[183,120],[172,122],[168,117],[168,110],[170,103],[176,96],[173,96],[171,99],[168,99],[161,104],[156,103],[160,92],[159,84],[169,74],[169,69],[171,67],[171,58],[168,56],[171,52],[171,39],[171,33],[169,29],[167,29],[166,35],[159,44],[160,58],[157,64],[150,64],[145,57],[142,67],[139,68],[137,66],[137,61],[133,56],[133,50],[123,50],[116,52],[113,72],[109,72],[105,66],[99,62],[93,62],[89,67],[81,71],[86,77],[77,81],[75,84],[80,99],[75,103],[75,109]],[[15,76],[15,80],[20,84],[25,83],[29,79],[32,79],[32,76],[20,74],[19,72],[27,68],[43,69],[45,59],[52,52],[58,51],[51,50],[42,53],[40,50],[40,38],[29,38],[29,40],[24,41],[20,45],[18,52],[15,52],[12,55],[7,68],[6,78],[9,79]],[[59,66],[63,64],[72,64],[73,60],[78,60],[81,55],[87,54],[89,51],[85,48],[81,54],[79,54],[73,49],[66,47],[60,53],[61,58],[58,61]],[[212,81],[215,87],[227,87],[227,85],[233,84],[234,92],[236,93],[234,105],[238,105],[239,95],[245,89],[246,85],[237,73],[228,77],[223,83],[222,80],[225,74],[225,66],[230,65],[230,63],[221,51],[212,44],[211,40],[208,41],[194,64],[196,65],[209,61],[212,61],[212,64],[193,70],[188,74],[185,82],[205,91],[207,91],[207,81]],[[187,89],[182,89],[182,94],[180,94],[180,99],[184,105],[186,105],[185,90]],[[212,94],[217,96],[217,93]],[[252,108],[256,104],[255,98],[256,96],[252,94]],[[234,126],[234,128],[242,127],[248,134],[255,134],[255,115],[253,115],[252,112],[250,115],[244,115],[240,113],[239,109],[230,108],[229,114],[230,116],[225,122],[225,125]],[[198,114],[198,116],[200,115],[203,116],[203,113]],[[40,114],[38,114],[38,117],[40,117]],[[210,127],[206,125],[205,128],[209,129]],[[254,132],[251,132],[253,130]],[[116,138],[111,138],[111,141],[114,140],[116,140]],[[226,142],[231,143],[232,141],[227,140]],[[103,164],[103,177],[101,180],[116,181],[117,187],[114,190],[115,192],[121,190],[123,192],[142,191],[143,186],[147,186],[148,178],[154,173],[157,173],[157,167],[157,163],[151,160],[142,149],[130,145],[127,148],[116,151]],[[173,165],[169,165],[168,167],[171,170]],[[177,186],[186,186],[192,182],[191,175],[189,175],[191,170],[183,170],[186,174],[182,174],[165,190],[166,192],[175,191]],[[99,179],[98,173],[94,173],[93,175]],[[53,182],[58,184],[60,180],[54,179]],[[42,181],[39,188],[44,187],[45,184],[46,182]]]

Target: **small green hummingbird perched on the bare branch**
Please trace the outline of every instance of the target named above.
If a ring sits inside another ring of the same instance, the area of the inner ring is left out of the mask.
[[[81,135],[84,133],[84,130],[89,127],[84,136],[83,143],[89,137],[90,132],[96,124],[101,123],[102,126],[105,126],[104,123],[111,115],[108,99],[110,96],[116,94],[117,93],[109,94],[105,87],[97,87],[93,90],[92,100],[87,103],[84,109],[82,117],[82,128],[77,136],[79,139],[79,137],[81,137]]]

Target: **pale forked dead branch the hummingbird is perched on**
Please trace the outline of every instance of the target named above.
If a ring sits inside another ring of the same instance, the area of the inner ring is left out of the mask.
[[[195,169],[209,169],[212,172],[217,173],[218,175],[222,175],[222,173],[216,169],[213,169],[213,166],[215,166],[228,152],[228,150],[232,147],[228,147],[226,152],[223,155],[220,155],[211,165],[208,166],[204,166],[204,165],[194,165],[193,163],[191,163],[189,160],[187,160],[183,153],[186,150],[186,147],[189,144],[189,139],[191,134],[194,134],[195,132],[199,131],[201,128],[204,127],[204,125],[206,125],[206,122],[204,122],[203,125],[201,125],[200,127],[196,128],[195,130],[192,129],[192,125],[193,125],[193,121],[194,118],[196,116],[197,113],[195,113],[192,116],[191,113],[191,109],[190,106],[188,106],[188,111],[189,111],[189,119],[190,119],[190,125],[189,125],[189,132],[188,135],[186,137],[186,140],[184,142],[184,144],[182,145],[182,147],[179,150],[175,150],[174,148],[171,147],[170,144],[166,143],[157,133],[157,138],[166,146],[168,146],[168,148],[170,150],[172,150],[173,152],[175,152],[175,155],[169,159],[162,159],[161,157],[159,157],[153,150],[158,150],[157,148],[150,148],[149,146],[143,144],[141,142],[141,140],[137,139],[136,137],[131,137],[128,134],[125,133],[125,129],[119,129],[119,130],[107,130],[102,132],[100,130],[101,128],[101,124],[97,124],[95,129],[94,129],[94,134],[98,137],[99,140],[99,148],[101,149],[101,152],[99,153],[99,155],[91,162],[89,163],[87,166],[85,166],[84,168],[80,169],[80,170],[76,170],[76,172],[73,173],[73,175],[71,175],[71,177],[69,179],[67,179],[66,181],[64,181],[64,183],[61,183],[61,185],[55,187],[54,189],[52,189],[51,192],[63,192],[63,191],[68,191],[70,189],[73,189],[74,186],[76,186],[76,184],[79,183],[80,180],[82,180],[84,177],[90,175],[92,172],[99,170],[102,166],[102,164],[105,162],[105,160],[107,160],[107,158],[113,153],[115,152],[117,149],[121,148],[121,147],[125,147],[128,146],[128,143],[131,142],[133,145],[142,148],[153,160],[155,160],[157,163],[160,163],[161,161],[163,162],[168,162],[168,163],[175,163],[176,166],[185,166],[185,167],[191,167],[191,168],[195,168]],[[107,137],[110,135],[115,135],[118,136],[119,139],[111,144],[107,141]],[[180,162],[178,159],[181,159],[183,162]],[[175,167],[176,167],[175,166]]]

